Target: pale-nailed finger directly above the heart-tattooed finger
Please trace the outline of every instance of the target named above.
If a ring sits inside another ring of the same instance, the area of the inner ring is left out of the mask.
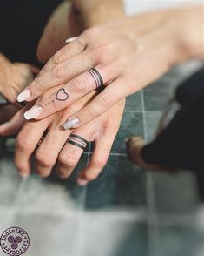
[[[80,56],[72,57],[60,64],[56,64],[52,69],[43,73],[42,76],[36,77],[30,86],[17,96],[17,101],[33,100],[40,96],[43,91],[66,83],[94,65],[91,55],[87,51],[83,51]]]

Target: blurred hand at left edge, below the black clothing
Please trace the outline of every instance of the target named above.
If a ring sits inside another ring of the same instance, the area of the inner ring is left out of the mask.
[[[0,55],[0,93],[10,103],[16,103],[17,94],[33,81],[38,69],[30,64],[10,63]]]

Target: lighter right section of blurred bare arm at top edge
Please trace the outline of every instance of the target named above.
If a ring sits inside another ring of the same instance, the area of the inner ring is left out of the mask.
[[[123,17],[122,0],[72,0],[85,28]]]

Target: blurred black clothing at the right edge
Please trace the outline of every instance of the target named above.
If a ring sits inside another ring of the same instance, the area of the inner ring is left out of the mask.
[[[204,170],[204,68],[178,87],[175,98],[181,110],[141,156],[151,164]]]

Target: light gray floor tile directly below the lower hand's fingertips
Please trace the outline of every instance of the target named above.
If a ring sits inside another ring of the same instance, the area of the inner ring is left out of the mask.
[[[7,154],[0,162],[1,205],[31,212],[43,210],[56,213],[69,212],[84,206],[86,188],[76,185],[76,175],[86,166],[87,155],[82,156],[70,179],[58,179],[54,173],[47,179],[41,179],[35,173],[28,179],[20,179],[16,174],[12,156],[11,153]]]

